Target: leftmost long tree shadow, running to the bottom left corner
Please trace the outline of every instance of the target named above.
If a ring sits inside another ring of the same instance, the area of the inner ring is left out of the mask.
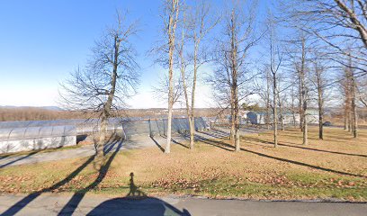
[[[111,139],[108,140],[108,141],[111,141]],[[114,142],[114,145],[116,143],[117,142]],[[121,142],[120,142],[120,144],[121,144]],[[120,148],[117,148],[117,149],[120,149]],[[116,152],[117,151],[118,150],[116,150]],[[94,161],[94,157],[95,157],[95,155],[93,155],[91,157],[88,157],[88,159],[85,161],[85,163],[83,163],[81,166],[78,166],[76,168],[76,170],[74,170],[71,174],[67,175],[67,177],[65,177],[64,179],[62,179],[58,183],[53,184],[53,185],[51,185],[48,188],[44,188],[44,189],[42,189],[42,190],[40,190],[38,192],[31,193],[31,194],[27,195],[26,197],[22,198],[21,201],[14,203],[13,206],[11,206],[9,209],[7,209],[6,211],[4,211],[1,215],[2,216],[3,215],[6,215],[6,216],[7,215],[14,215],[17,212],[21,211],[29,203],[31,203],[32,201],[34,201],[37,197],[39,197],[40,194],[53,192],[53,191],[57,190],[58,188],[60,188],[61,186],[67,184],[73,178],[75,178],[76,175],[79,175],[85,169],[86,166],[88,166],[89,164],[91,164]]]

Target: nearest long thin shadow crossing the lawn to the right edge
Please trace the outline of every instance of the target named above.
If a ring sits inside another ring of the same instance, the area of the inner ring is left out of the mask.
[[[207,141],[203,141],[203,142],[208,143],[212,146],[216,146],[218,148],[226,149],[228,151],[233,151],[233,149],[234,149],[233,146],[228,145],[227,143],[224,143],[224,142],[221,142],[221,141],[217,141],[217,140],[210,140],[210,141],[207,140]],[[231,148],[231,149],[228,149],[228,148]],[[321,167],[321,166],[309,165],[309,164],[306,164],[306,163],[303,163],[303,162],[300,162],[300,161],[295,161],[295,160],[286,159],[286,158],[282,158],[282,157],[270,156],[270,155],[266,155],[264,153],[248,150],[248,149],[245,149],[245,148],[241,148],[241,150],[249,152],[249,153],[253,153],[253,154],[258,155],[258,156],[268,157],[268,158],[276,159],[276,160],[279,160],[279,161],[282,161],[282,162],[288,162],[288,163],[299,165],[299,166],[307,166],[307,167],[310,167],[310,168],[315,168],[315,169],[322,170],[322,171],[332,172],[332,173],[336,173],[336,174],[339,174],[339,175],[350,175],[350,176],[355,176],[355,177],[367,178],[367,176],[365,176],[365,175],[357,175],[357,174],[347,173],[347,172],[338,171],[338,170],[335,170],[335,169],[325,168],[325,167]]]

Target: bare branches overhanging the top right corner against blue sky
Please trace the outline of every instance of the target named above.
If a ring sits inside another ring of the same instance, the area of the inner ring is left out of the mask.
[[[347,67],[354,58],[355,75],[367,74],[367,6],[363,0],[295,0],[284,5],[298,28],[315,35],[337,54],[333,61]],[[352,46],[351,46],[352,45]]]

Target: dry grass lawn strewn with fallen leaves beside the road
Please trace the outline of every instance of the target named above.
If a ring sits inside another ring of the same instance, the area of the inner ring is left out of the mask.
[[[242,137],[240,152],[228,139],[197,142],[190,150],[174,145],[170,155],[159,148],[124,150],[105,158],[102,171],[93,157],[0,170],[1,193],[73,192],[124,196],[192,194],[211,198],[339,199],[367,201],[367,130],[360,137],[327,128],[319,140],[310,128],[309,145],[299,130]],[[183,143],[187,146],[188,143]],[[134,174],[133,184],[130,173]]]

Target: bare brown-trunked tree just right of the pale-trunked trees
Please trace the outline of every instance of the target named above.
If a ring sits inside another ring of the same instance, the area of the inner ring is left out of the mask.
[[[253,71],[246,67],[249,51],[261,37],[255,34],[256,2],[246,5],[234,2],[230,12],[224,16],[223,35],[218,39],[215,62],[217,69],[210,78],[217,102],[230,107],[231,140],[236,151],[239,145],[239,102],[254,94],[249,80],[254,80]],[[244,13],[243,8],[248,8]]]

